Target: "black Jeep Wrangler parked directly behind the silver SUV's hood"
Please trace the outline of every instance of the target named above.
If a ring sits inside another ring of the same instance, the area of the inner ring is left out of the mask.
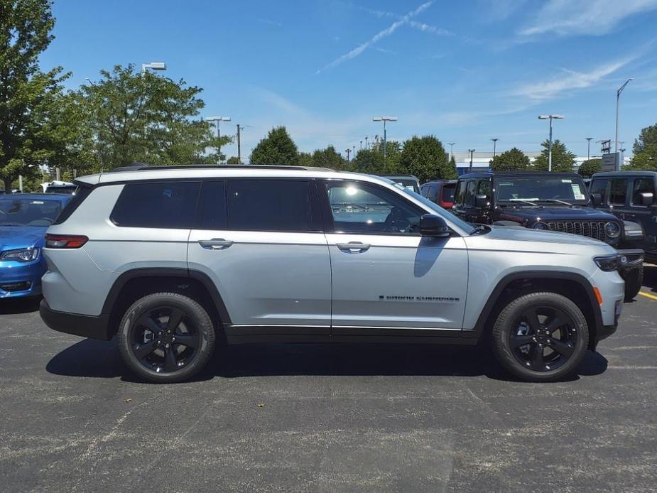
[[[625,299],[631,300],[644,280],[644,251],[633,249],[641,227],[594,209],[594,200],[598,197],[589,196],[577,173],[469,173],[457,182],[452,212],[469,222],[582,234],[606,242],[619,249]]]

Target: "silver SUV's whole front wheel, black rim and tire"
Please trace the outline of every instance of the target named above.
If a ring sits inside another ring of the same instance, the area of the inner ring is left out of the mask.
[[[502,367],[526,381],[555,381],[572,374],[588,344],[584,314],[557,293],[512,300],[492,330],[493,352]]]

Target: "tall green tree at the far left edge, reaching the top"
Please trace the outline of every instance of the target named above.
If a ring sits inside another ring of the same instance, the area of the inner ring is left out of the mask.
[[[48,109],[68,77],[42,72],[38,58],[53,36],[49,0],[0,0],[0,178],[4,189],[53,156]]]

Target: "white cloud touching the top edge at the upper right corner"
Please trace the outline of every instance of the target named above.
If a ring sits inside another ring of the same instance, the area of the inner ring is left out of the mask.
[[[626,17],[657,8],[657,0],[550,0],[522,36],[608,33]]]

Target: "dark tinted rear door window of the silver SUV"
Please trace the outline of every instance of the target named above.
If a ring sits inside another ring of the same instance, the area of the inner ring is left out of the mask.
[[[316,231],[307,180],[230,180],[228,228]]]

